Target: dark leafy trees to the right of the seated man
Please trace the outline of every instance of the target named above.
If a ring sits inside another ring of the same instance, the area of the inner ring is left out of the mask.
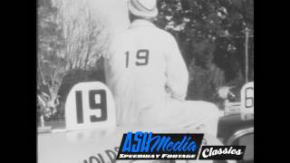
[[[219,86],[239,78],[239,73],[244,74],[242,31],[246,28],[254,31],[253,3],[253,0],[159,1],[156,24],[176,37],[189,66],[189,99],[211,100]],[[253,56],[251,50],[250,57]],[[252,70],[253,62],[250,66]]]

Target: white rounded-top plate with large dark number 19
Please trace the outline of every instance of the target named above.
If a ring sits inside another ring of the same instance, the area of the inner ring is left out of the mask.
[[[110,128],[116,125],[111,91],[102,82],[73,86],[65,102],[66,129]]]

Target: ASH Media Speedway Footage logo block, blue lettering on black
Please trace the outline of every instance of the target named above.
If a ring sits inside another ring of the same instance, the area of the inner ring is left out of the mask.
[[[117,159],[197,159],[204,134],[128,132]]]

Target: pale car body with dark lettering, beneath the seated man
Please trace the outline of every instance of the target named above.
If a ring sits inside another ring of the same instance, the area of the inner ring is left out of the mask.
[[[116,160],[121,138],[129,131],[152,131],[153,133],[200,133],[198,130],[164,128],[111,128],[73,130],[59,133],[39,134],[37,138],[38,163],[129,163],[157,162],[157,160]],[[222,145],[205,134],[208,145]],[[194,161],[199,162],[199,161]],[[200,162],[207,162],[202,160]]]

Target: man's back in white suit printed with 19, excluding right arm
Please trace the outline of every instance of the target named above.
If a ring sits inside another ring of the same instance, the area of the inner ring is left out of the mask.
[[[142,110],[163,109],[168,96],[167,51],[171,39],[170,34],[145,21],[134,22],[114,39],[106,76],[119,123],[135,123]]]

